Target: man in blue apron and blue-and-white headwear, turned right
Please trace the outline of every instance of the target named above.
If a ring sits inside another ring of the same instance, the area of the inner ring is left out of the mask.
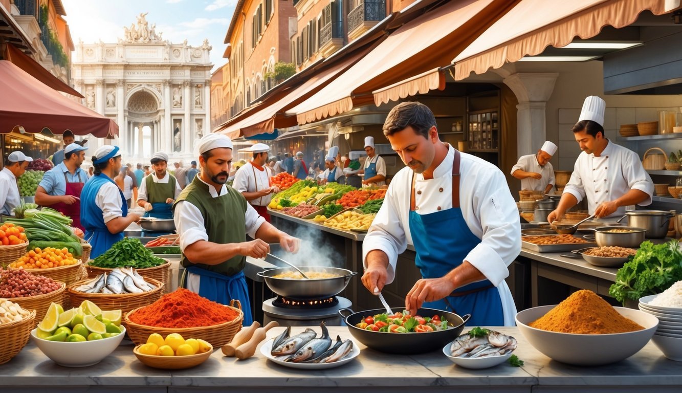
[[[140,216],[128,214],[125,196],[113,180],[121,170],[119,147],[100,147],[92,157],[92,164],[95,175],[83,187],[81,220],[85,238],[92,245],[90,257],[96,258],[122,240],[123,231]]]

